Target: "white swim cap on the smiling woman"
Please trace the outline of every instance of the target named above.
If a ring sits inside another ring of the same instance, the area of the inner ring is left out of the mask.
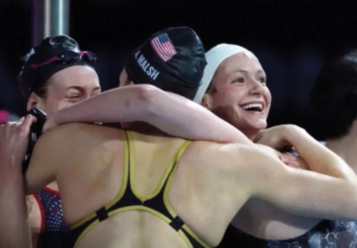
[[[212,80],[214,73],[218,66],[227,58],[238,54],[240,52],[249,51],[243,47],[233,44],[222,43],[219,44],[206,53],[207,66],[204,69],[202,84],[198,88],[193,101],[200,103],[203,95],[206,93],[207,88]]]

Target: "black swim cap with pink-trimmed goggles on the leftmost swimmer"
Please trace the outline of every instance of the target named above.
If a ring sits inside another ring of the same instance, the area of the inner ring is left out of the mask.
[[[17,77],[23,95],[28,98],[39,85],[53,74],[73,65],[94,67],[95,54],[81,51],[78,43],[66,35],[43,39],[22,59],[23,66]]]

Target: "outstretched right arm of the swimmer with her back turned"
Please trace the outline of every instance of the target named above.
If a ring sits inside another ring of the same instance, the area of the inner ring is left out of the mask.
[[[260,148],[245,148],[245,177],[250,197],[267,201],[292,214],[305,217],[357,220],[357,176],[348,178],[319,174],[285,166]],[[242,156],[240,156],[242,157]],[[337,159],[335,166],[349,170]],[[241,171],[237,172],[242,173]]]

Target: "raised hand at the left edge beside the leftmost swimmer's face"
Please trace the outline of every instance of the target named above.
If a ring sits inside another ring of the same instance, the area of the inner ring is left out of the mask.
[[[10,164],[21,162],[25,158],[31,124],[36,118],[27,115],[17,122],[8,122],[0,126],[0,157]]]

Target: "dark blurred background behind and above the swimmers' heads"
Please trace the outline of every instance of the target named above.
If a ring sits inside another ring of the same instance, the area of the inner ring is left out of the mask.
[[[33,45],[33,9],[32,0],[0,2],[0,109],[17,115],[24,114],[24,99],[16,76],[19,58]],[[298,124],[311,134],[318,127],[308,97],[319,67],[325,56],[357,42],[356,11],[347,1],[71,0],[69,18],[69,35],[98,56],[103,90],[117,87],[131,51],[166,27],[192,27],[206,50],[244,46],[268,75],[269,125]]]

